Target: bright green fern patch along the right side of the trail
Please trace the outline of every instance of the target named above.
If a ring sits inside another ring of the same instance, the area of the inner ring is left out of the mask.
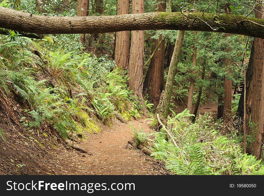
[[[178,147],[165,140],[163,129],[155,134],[152,156],[164,160],[167,169],[177,175],[263,174],[261,161],[243,154],[232,134],[220,134],[223,124],[214,122],[212,114],[200,115],[195,123],[182,120],[183,114],[169,118],[167,123]]]

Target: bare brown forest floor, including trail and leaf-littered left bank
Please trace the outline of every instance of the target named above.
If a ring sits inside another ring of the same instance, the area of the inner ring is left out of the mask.
[[[146,133],[153,132],[151,121],[145,119],[122,123],[114,119],[113,126],[100,125],[102,132],[84,133],[83,139],[74,145],[88,150],[91,155],[68,147],[56,132],[35,130],[32,134],[18,121],[22,109],[15,106],[17,119],[8,120],[5,112],[0,112],[0,128],[4,130],[8,142],[0,142],[0,174],[66,174],[66,175],[166,175],[170,174],[164,163],[146,156],[128,144],[133,139],[130,124],[137,130],[140,126]],[[180,109],[180,108],[178,108]],[[198,113],[217,111],[217,104],[206,103]],[[181,112],[181,111],[179,111]],[[16,122],[16,123],[15,123]],[[42,134],[43,132],[43,134]],[[44,136],[46,132],[47,135]],[[55,139],[57,138],[57,139]],[[50,144],[57,147],[52,147]]]

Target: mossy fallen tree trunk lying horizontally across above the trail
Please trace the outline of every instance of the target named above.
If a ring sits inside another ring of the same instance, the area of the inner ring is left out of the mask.
[[[214,13],[152,12],[116,16],[39,16],[0,7],[0,28],[36,34],[106,33],[131,30],[186,30],[264,38],[264,19]]]

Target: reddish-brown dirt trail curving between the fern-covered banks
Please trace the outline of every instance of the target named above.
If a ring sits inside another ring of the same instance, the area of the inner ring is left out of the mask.
[[[144,132],[152,131],[149,121],[130,121],[138,130],[143,127]],[[166,169],[160,162],[144,155],[128,144],[131,140],[132,129],[129,123],[114,122],[113,128],[107,128],[100,134],[92,134],[80,147],[85,148],[93,155],[78,151],[65,150],[57,156],[63,174],[84,175],[155,175],[166,174]]]

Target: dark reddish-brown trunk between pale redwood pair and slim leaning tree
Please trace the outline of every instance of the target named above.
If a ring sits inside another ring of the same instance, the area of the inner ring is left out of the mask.
[[[157,11],[164,12],[166,8],[166,3],[162,3],[163,0],[158,0],[158,9]],[[158,47],[162,40],[162,35],[160,35],[158,40],[155,40],[155,44],[152,48],[153,52]],[[165,50],[165,40],[163,40],[154,56],[150,61],[150,67],[153,67],[152,77],[151,77],[151,89],[149,96],[151,97],[154,109],[156,110],[158,103],[160,101],[161,92],[164,85],[164,50]]]

